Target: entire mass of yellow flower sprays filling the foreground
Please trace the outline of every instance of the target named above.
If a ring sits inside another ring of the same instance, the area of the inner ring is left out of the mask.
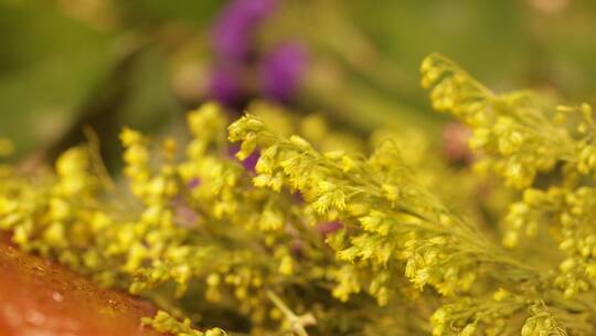
[[[476,167],[513,191],[454,167],[412,130],[375,133],[369,151],[320,115],[256,102],[255,115],[228,125],[207,102],[189,114],[181,149],[123,130],[132,197],[105,186],[93,144],[65,151],[54,172],[0,167],[0,229],[152,300],[162,311],[145,323],[175,335],[225,335],[194,325],[252,335],[593,335],[592,108],[496,94],[437,54],[422,72],[435,108],[471,128]]]

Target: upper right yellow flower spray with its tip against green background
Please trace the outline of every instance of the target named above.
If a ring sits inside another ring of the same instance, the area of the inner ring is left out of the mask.
[[[480,154],[478,169],[494,169],[508,186],[522,189],[558,160],[574,159],[572,135],[555,123],[561,114],[540,96],[496,94],[439,54],[427,56],[421,72],[433,106],[471,127],[469,144]]]

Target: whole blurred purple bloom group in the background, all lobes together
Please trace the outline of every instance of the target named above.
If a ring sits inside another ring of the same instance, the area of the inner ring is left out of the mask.
[[[251,96],[286,103],[294,95],[305,72],[306,50],[298,43],[283,43],[262,56],[253,41],[277,4],[275,0],[234,0],[222,10],[212,31],[216,63],[210,98],[242,109]],[[258,73],[258,86],[246,81],[254,73]]]

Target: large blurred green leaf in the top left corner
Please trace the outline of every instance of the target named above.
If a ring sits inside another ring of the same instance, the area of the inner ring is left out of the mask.
[[[0,6],[0,133],[30,151],[76,118],[115,65],[114,36],[49,3]]]

